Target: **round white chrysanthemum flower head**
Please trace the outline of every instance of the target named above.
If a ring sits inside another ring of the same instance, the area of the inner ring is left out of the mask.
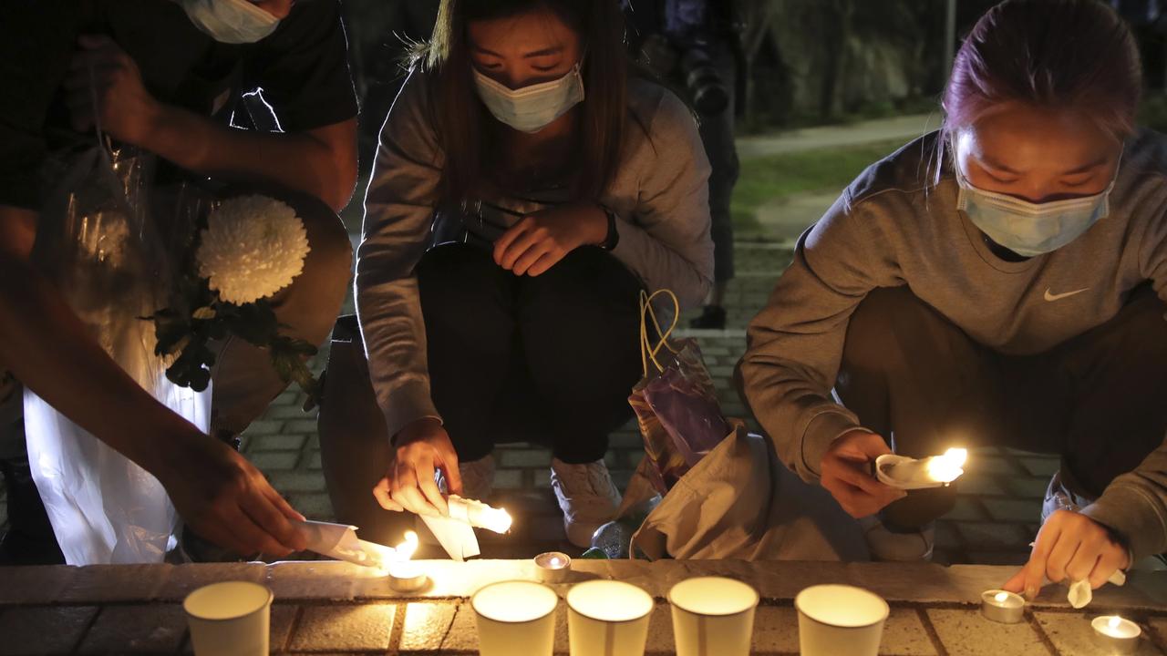
[[[239,196],[207,218],[198,246],[198,274],[224,301],[240,305],[271,296],[303,271],[308,256],[303,222],[286,203]]]

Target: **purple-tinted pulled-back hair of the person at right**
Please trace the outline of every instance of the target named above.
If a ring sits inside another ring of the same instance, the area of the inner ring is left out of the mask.
[[[944,132],[1011,100],[1079,110],[1116,138],[1134,132],[1142,71],[1126,23],[1098,0],[1006,0],[969,34],[944,92]]]

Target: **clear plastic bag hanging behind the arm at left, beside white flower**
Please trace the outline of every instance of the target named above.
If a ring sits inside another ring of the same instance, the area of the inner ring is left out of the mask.
[[[187,186],[155,193],[153,155],[130,147],[102,144],[64,161],[34,263],[114,362],[205,432],[210,388],[194,392],[166,379],[154,326],[141,317],[166,303],[209,198]],[[176,544],[177,515],[153,475],[28,390],[25,425],[33,477],[70,565],[162,561]]]

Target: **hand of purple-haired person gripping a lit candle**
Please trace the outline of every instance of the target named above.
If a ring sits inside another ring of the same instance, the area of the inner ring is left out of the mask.
[[[857,428],[831,442],[823,455],[822,484],[852,517],[867,517],[907,496],[871,475],[871,463],[892,453],[883,438]]]

